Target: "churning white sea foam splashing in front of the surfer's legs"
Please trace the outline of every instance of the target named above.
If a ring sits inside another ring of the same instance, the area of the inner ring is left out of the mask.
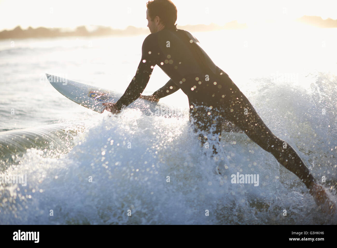
[[[223,136],[219,163],[198,145],[187,119],[132,109],[103,114],[68,154],[48,158],[30,149],[7,169],[27,174],[27,186],[0,186],[1,223],[328,223],[270,154],[244,134]],[[260,185],[231,184],[237,171],[259,174]],[[288,219],[283,209],[292,213]]]

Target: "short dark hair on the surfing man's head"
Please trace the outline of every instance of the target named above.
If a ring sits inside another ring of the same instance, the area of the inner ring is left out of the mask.
[[[146,3],[151,21],[158,16],[167,28],[174,27],[177,21],[177,7],[170,0],[153,0]]]

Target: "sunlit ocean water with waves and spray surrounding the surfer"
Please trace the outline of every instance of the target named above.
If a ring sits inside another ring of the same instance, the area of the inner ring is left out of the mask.
[[[317,180],[326,178],[336,202],[336,30],[293,25],[192,34],[273,133]],[[0,184],[0,224],[337,223],[245,134],[223,132],[214,159],[199,147],[186,116],[98,114],[44,78],[124,92],[145,37],[0,41],[0,144],[8,145],[0,173],[27,176],[26,186]],[[155,67],[144,94],[167,81]],[[160,101],[188,107],[181,90]],[[259,174],[259,185],[232,184],[237,172]]]

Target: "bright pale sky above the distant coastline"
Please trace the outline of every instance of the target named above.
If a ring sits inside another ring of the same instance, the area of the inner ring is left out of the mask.
[[[20,25],[74,28],[102,25],[124,29],[145,27],[147,0],[0,0],[0,31]],[[223,25],[237,20],[256,25],[307,16],[337,19],[337,0],[173,0],[178,25]]]

